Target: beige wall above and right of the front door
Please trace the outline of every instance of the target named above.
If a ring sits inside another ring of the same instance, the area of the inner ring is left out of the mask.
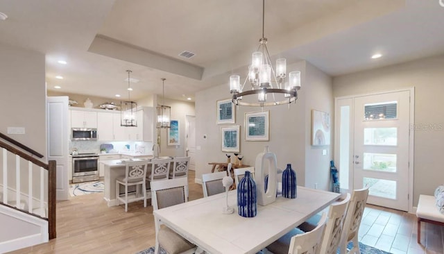
[[[334,96],[364,94],[415,87],[415,124],[441,124],[444,127],[444,56],[434,56],[401,65],[383,67],[333,79]],[[420,194],[433,194],[444,183],[444,130],[415,130],[413,206]]]

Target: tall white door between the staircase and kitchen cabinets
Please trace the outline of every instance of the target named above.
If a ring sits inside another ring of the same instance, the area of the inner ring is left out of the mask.
[[[47,97],[46,119],[48,160],[56,160],[56,198],[67,200],[68,179],[68,96]]]

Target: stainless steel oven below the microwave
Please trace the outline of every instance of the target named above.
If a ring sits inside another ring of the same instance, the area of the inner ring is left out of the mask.
[[[78,153],[72,155],[72,183],[99,180],[99,155]]]

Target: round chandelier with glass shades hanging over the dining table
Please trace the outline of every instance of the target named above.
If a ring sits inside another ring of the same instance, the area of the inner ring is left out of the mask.
[[[290,104],[298,99],[300,71],[291,71],[289,80],[286,81],[287,60],[285,58],[276,60],[276,71],[273,69],[266,47],[267,39],[264,37],[264,23],[265,0],[262,1],[262,38],[259,39],[257,51],[253,52],[247,77],[241,85],[239,75],[230,76],[230,93],[235,105],[262,108],[264,106]],[[247,81],[251,85],[250,90],[245,87]],[[255,98],[252,99],[251,97]]]

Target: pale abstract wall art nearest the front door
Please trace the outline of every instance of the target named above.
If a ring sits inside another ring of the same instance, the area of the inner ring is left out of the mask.
[[[330,114],[311,110],[311,145],[330,145]]]

